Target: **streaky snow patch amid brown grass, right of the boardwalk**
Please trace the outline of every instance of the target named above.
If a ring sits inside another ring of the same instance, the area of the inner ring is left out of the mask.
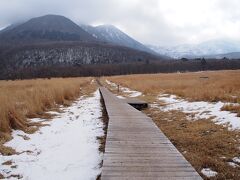
[[[168,94],[161,94],[158,100],[164,102],[164,106],[159,106],[163,111],[180,110],[185,113],[194,114],[194,117],[189,116],[189,119],[213,118],[217,124],[228,124],[231,129],[240,129],[240,117],[237,117],[236,113],[221,111],[221,108],[224,106],[223,102],[189,102],[175,95]]]

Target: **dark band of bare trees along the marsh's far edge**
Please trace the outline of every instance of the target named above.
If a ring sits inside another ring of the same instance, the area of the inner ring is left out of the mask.
[[[51,77],[86,77],[111,76],[146,73],[194,72],[206,70],[240,69],[240,60],[166,60],[144,61],[121,64],[85,64],[78,66],[41,66],[3,70],[1,80],[51,78]]]

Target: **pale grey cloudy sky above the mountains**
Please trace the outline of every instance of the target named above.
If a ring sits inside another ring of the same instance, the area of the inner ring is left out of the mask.
[[[240,40],[240,0],[0,0],[0,28],[45,14],[113,24],[142,43]]]

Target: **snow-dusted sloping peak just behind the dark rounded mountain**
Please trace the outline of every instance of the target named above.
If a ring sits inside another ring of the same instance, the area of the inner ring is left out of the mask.
[[[93,37],[102,42],[116,44],[119,46],[125,46],[140,51],[156,54],[156,52],[150,50],[149,48],[136,41],[135,39],[131,38],[113,25],[100,25],[96,27],[89,25],[80,26]]]

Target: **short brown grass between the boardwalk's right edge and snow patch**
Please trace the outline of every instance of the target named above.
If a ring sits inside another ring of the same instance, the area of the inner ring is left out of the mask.
[[[218,172],[216,177],[203,176],[204,179],[240,179],[240,168],[228,164],[239,156],[240,132],[229,131],[211,120],[189,121],[180,111],[162,112],[152,108],[145,112],[199,174],[202,168]]]

